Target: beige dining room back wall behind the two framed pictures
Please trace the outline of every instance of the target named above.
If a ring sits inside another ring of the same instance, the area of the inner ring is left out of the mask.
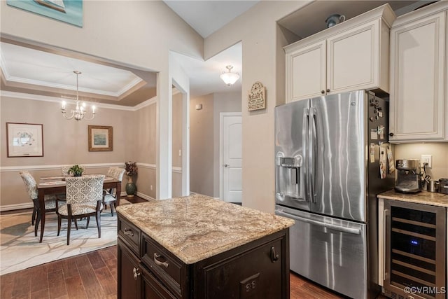
[[[2,96],[0,107],[1,209],[31,204],[18,173],[23,169],[31,170],[38,180],[42,176],[61,175],[60,165],[81,164],[87,166],[86,174],[106,174],[110,166],[124,167],[125,161],[134,160],[136,148],[127,146],[136,139],[130,134],[136,130],[134,111],[99,108],[93,120],[77,122],[62,117],[59,102]],[[6,123],[42,124],[43,157],[8,158]],[[112,126],[113,151],[88,151],[87,125]],[[123,179],[122,190],[125,183]]]

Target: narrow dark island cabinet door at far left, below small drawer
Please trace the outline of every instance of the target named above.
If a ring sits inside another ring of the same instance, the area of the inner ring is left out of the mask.
[[[134,253],[118,239],[118,298],[134,299],[141,296],[141,272],[139,260]]]

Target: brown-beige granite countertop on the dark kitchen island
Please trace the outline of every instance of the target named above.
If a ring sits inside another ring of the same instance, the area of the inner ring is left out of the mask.
[[[234,249],[294,224],[289,218],[205,195],[126,204],[117,207],[117,212],[186,264]]]

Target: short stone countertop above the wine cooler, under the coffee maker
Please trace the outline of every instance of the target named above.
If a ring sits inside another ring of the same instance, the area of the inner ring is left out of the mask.
[[[448,207],[448,195],[436,192],[420,191],[419,193],[398,193],[394,189],[378,195],[386,200],[400,200],[417,204],[430,204],[437,207]]]

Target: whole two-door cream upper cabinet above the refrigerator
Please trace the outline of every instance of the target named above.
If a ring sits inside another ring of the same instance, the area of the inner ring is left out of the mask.
[[[286,102],[361,89],[388,92],[394,19],[384,4],[286,46]]]

